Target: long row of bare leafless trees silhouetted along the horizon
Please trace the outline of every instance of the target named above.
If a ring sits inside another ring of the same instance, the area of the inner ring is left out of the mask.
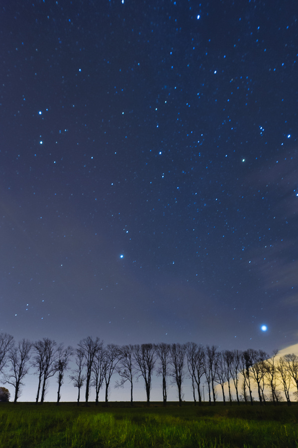
[[[70,369],[74,360],[76,367]],[[209,404],[217,400],[216,386],[219,385],[224,405],[228,401],[245,401],[253,404],[253,388],[256,388],[259,402],[272,401],[278,404],[286,400],[291,404],[290,389],[298,398],[298,356],[294,353],[284,356],[274,350],[271,355],[263,350],[218,350],[216,345],[196,342],[104,346],[99,337],[88,336],[78,343],[77,348],[65,347],[55,340],[44,337],[36,342],[23,338],[16,342],[13,336],[0,334],[0,372],[4,384],[14,388],[16,403],[24,377],[33,368],[37,375],[36,403],[43,403],[49,379],[56,376],[58,383],[57,404],[61,399],[61,387],[65,374],[78,389],[77,402],[80,403],[81,389],[85,387],[85,402],[89,401],[91,388],[95,390],[95,402],[99,403],[99,391],[105,389],[105,403],[108,402],[109,388],[113,374],[117,374],[115,387],[130,385],[130,402],[133,403],[133,384],[140,377],[144,381],[147,403],[154,374],[161,377],[164,405],[167,404],[168,383],[176,384],[179,404],[183,400],[183,382],[191,379],[195,405],[202,402],[202,386],[207,385]],[[224,386],[227,386],[226,394]],[[236,399],[233,400],[231,386],[234,386]],[[264,390],[270,390],[266,395]],[[8,390],[0,388],[0,401],[7,401]],[[8,392],[9,393],[9,392]],[[227,396],[226,396],[227,395]],[[9,398],[9,397],[8,397]]]

